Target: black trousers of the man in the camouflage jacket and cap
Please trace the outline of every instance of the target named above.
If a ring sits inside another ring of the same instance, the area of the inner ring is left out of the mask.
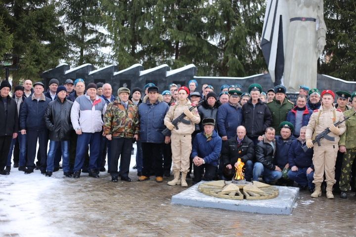
[[[129,177],[132,143],[133,138],[118,137],[111,140],[110,174],[112,177],[119,176],[118,163],[120,156],[121,178]]]

